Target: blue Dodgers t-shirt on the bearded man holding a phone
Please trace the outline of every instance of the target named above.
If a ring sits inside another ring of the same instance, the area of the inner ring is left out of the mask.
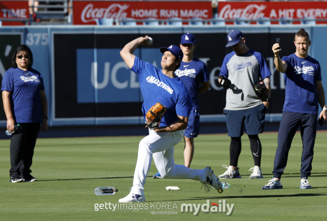
[[[319,62],[310,56],[299,58],[295,54],[283,57],[282,61],[287,63],[283,111],[318,113],[316,81],[321,81]]]

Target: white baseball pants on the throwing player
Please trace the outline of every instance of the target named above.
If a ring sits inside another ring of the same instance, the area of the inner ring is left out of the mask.
[[[184,132],[185,130],[155,133],[149,130],[149,135],[139,142],[131,192],[144,195],[144,185],[150,170],[152,157],[161,177],[165,179],[205,181],[204,169],[190,169],[184,165],[174,164],[174,145],[181,141]]]

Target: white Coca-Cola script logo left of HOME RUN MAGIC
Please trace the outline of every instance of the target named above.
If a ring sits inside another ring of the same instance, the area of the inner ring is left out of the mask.
[[[94,8],[93,4],[88,4],[82,11],[81,20],[83,22],[96,21],[100,18],[113,18],[122,20],[127,17],[126,9],[129,5],[111,4],[108,8]]]

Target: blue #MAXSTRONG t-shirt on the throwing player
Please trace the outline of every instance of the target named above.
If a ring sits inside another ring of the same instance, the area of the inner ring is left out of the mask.
[[[161,69],[135,57],[131,68],[138,75],[139,87],[144,98],[142,112],[144,119],[148,110],[157,102],[167,107],[160,126],[171,125],[178,120],[177,115],[189,117],[192,99],[183,82],[178,77],[170,78]]]

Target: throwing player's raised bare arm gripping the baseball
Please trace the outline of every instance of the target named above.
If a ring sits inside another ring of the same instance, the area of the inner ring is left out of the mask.
[[[133,55],[133,53],[135,49],[140,44],[150,46],[151,44],[149,43],[150,41],[146,35],[145,37],[136,38],[124,46],[123,50],[121,51],[121,56],[129,68],[132,68],[134,65],[135,55]]]

